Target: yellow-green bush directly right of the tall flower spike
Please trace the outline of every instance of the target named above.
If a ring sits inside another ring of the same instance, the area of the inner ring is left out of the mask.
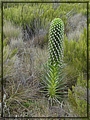
[[[73,81],[80,73],[87,73],[87,31],[81,34],[78,41],[64,40],[64,62],[66,63],[66,73],[68,82],[72,85]],[[71,81],[72,80],[72,81]]]

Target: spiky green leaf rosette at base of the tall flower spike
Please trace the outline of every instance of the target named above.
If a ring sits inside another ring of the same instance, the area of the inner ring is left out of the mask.
[[[44,93],[49,97],[52,102],[55,100],[62,100],[65,91],[65,75],[60,70],[58,64],[47,64],[45,65],[45,74],[43,75],[42,83],[44,84]]]

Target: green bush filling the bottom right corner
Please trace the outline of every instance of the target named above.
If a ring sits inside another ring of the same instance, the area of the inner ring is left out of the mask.
[[[69,109],[72,116],[87,117],[87,81],[78,78],[72,91],[68,90]]]

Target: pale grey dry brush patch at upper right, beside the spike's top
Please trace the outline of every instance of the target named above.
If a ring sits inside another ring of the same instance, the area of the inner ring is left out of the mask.
[[[67,23],[66,28],[68,29],[68,39],[78,40],[81,33],[83,33],[83,29],[87,27],[87,18],[79,13],[69,18]]]

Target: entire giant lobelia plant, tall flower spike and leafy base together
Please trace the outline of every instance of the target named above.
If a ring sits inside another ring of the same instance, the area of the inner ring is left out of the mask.
[[[43,77],[44,92],[53,101],[60,101],[65,95],[65,82],[63,75],[63,39],[64,23],[60,18],[52,20],[49,29],[49,60],[45,66]]]

